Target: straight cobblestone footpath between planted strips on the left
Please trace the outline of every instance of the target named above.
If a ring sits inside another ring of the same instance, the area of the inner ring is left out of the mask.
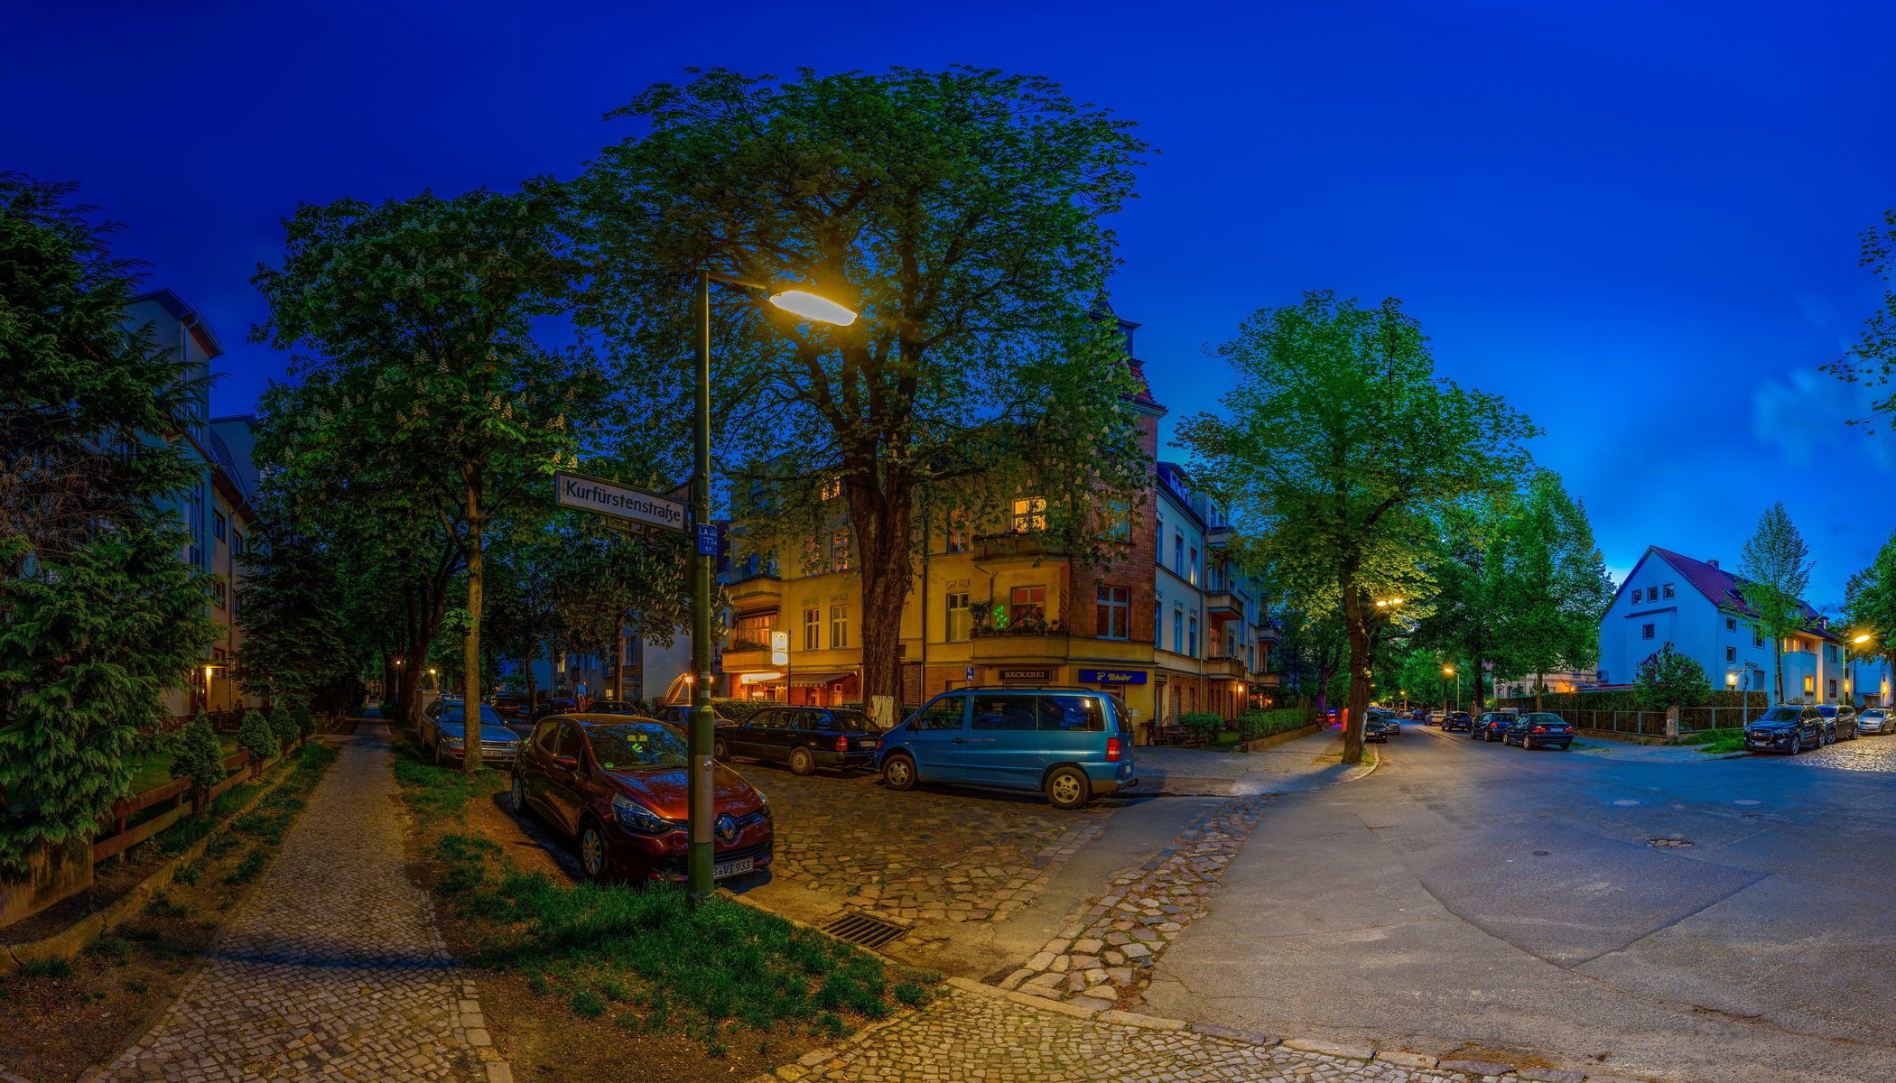
[[[510,1079],[406,835],[387,730],[364,725],[203,969],[91,1079]]]

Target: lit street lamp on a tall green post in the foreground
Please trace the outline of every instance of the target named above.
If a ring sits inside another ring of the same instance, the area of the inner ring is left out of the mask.
[[[692,463],[692,709],[686,726],[690,772],[686,772],[684,808],[690,842],[686,844],[684,874],[692,899],[709,899],[713,888],[711,865],[717,844],[711,840],[711,819],[717,814],[717,761],[711,749],[717,742],[711,715],[711,561],[717,546],[700,537],[711,523],[711,281],[766,294],[770,303],[813,322],[849,326],[855,311],[810,290],[785,290],[749,279],[698,269],[698,410],[696,459]]]

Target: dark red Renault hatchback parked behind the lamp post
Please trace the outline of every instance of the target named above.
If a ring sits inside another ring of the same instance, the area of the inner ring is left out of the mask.
[[[593,880],[684,880],[684,734],[626,715],[554,715],[533,728],[508,802],[573,836]],[[738,772],[715,768],[713,867],[719,880],[764,869],[775,844],[770,804]]]

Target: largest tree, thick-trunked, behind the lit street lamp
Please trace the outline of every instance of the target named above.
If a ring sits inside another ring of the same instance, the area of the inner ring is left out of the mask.
[[[1102,218],[1145,146],[1031,76],[956,68],[796,80],[696,72],[614,116],[643,137],[580,180],[588,322],[647,413],[686,417],[702,267],[802,285],[861,313],[802,324],[713,290],[732,512],[758,552],[848,529],[863,690],[901,696],[901,613],[923,499],[997,527],[1003,499],[1081,561],[1094,508],[1145,482],[1122,340],[1096,319],[1117,260]],[[684,431],[669,457],[683,472]]]

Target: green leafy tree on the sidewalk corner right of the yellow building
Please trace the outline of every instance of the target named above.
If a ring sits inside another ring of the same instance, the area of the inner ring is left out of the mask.
[[[1257,539],[1272,580],[1350,637],[1344,762],[1361,762],[1378,597],[1426,582],[1445,506],[1505,491],[1534,429],[1500,396],[1435,376],[1428,340],[1392,300],[1373,309],[1327,290],[1261,309],[1217,349],[1238,374],[1229,419],[1179,431],[1196,474]]]

